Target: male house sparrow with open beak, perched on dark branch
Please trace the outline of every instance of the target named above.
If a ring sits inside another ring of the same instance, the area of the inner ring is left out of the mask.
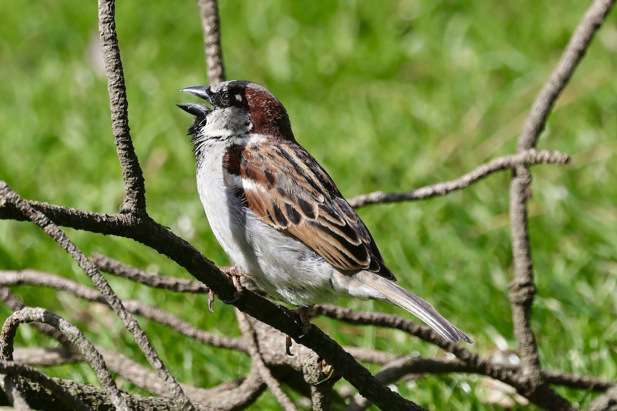
[[[197,190],[218,242],[239,271],[297,306],[340,296],[403,307],[450,341],[471,338],[396,285],[354,209],[291,132],[283,105],[249,81],[182,89],[209,102],[178,104],[189,127]]]

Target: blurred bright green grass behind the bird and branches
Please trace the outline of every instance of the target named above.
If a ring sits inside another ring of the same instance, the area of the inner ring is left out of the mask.
[[[574,0],[223,1],[226,74],[264,84],[286,105],[297,140],[347,197],[408,190],[455,179],[513,152],[532,100],[586,6]],[[114,213],[123,185],[106,80],[95,52],[95,2],[7,0],[0,3],[0,15],[0,179],[25,198]],[[188,101],[179,89],[207,82],[196,5],[119,2],[117,29],[149,213],[213,261],[226,264],[194,187],[194,160],[184,136],[191,118],[174,105]],[[533,326],[542,364],[613,379],[616,51],[617,24],[610,15],[539,141],[540,149],[567,152],[573,161],[563,168],[536,166],[530,203],[538,286]],[[359,211],[400,283],[473,336],[471,349],[479,353],[515,348],[507,299],[512,275],[508,182],[509,174],[500,173],[444,198]],[[86,254],[103,253],[149,271],[188,277],[135,242],[67,232]],[[40,230],[0,222],[0,268],[27,267],[89,283]],[[109,280],[123,298],[157,304],[211,332],[239,335],[231,307],[222,303],[210,315],[204,296]],[[88,330],[95,342],[141,360],[107,310],[64,293],[14,290],[27,304],[51,309]],[[341,304],[405,315],[381,303]],[[10,314],[6,307],[0,311]],[[194,343],[143,319],[140,323],[183,382],[212,386],[249,368],[240,354]],[[317,323],[341,344],[399,354],[439,352],[395,331],[353,330],[325,319]],[[20,344],[48,344],[23,328]],[[95,381],[81,365],[46,372]],[[481,378],[450,375],[400,383],[397,389],[429,409],[495,409],[476,397],[480,385]],[[574,405],[594,398],[559,391]],[[254,408],[275,409],[276,402],[268,394]]]

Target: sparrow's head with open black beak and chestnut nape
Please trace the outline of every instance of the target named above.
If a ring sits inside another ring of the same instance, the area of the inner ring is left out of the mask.
[[[181,91],[206,100],[204,104],[178,104],[196,116],[189,128],[193,141],[243,139],[249,134],[294,140],[283,104],[265,87],[251,81],[224,81],[213,86],[186,87]]]

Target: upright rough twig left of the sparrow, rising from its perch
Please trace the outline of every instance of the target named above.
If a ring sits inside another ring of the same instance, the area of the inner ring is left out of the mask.
[[[112,131],[114,132],[115,145],[122,167],[122,179],[124,180],[125,195],[120,211],[123,213],[145,213],[146,187],[128,127],[128,100],[126,100],[120,47],[115,30],[114,0],[99,0],[99,34],[107,73]]]

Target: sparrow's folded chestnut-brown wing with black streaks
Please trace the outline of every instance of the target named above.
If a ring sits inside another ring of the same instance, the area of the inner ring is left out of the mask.
[[[328,173],[296,142],[232,145],[226,184],[257,216],[297,238],[334,267],[395,280],[375,240]]]

